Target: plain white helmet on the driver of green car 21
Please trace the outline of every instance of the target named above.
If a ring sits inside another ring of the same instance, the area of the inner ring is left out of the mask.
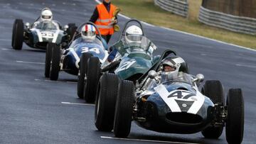
[[[125,31],[125,40],[127,43],[142,43],[142,29],[139,26],[129,26]]]

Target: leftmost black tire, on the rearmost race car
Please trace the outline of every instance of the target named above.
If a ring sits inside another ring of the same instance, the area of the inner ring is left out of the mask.
[[[14,21],[13,33],[11,38],[11,46],[14,50],[21,50],[23,45],[24,24],[21,19]]]

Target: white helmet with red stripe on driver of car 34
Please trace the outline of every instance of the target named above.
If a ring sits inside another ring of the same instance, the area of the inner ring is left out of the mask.
[[[82,38],[85,40],[95,40],[96,29],[94,26],[87,24],[85,26],[82,26],[81,35]]]

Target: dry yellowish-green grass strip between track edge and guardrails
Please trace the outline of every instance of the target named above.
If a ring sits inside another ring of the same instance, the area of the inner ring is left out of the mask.
[[[215,40],[221,40],[227,43],[233,43],[235,45],[256,49],[255,35],[234,33],[221,28],[206,26],[198,21],[198,13],[202,0],[188,0],[188,2],[188,18],[183,18],[155,6],[153,0],[113,1],[115,5],[122,9],[121,13],[131,18],[137,18],[157,26],[173,28],[179,31],[185,31],[196,35],[213,38]]]

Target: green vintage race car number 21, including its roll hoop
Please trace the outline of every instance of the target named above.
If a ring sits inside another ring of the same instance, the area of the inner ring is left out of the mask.
[[[132,22],[138,23],[142,28],[142,43],[127,43],[124,39],[126,28],[128,24]],[[118,51],[117,56],[112,62],[106,61],[102,64],[102,67],[98,65],[99,62],[96,60],[95,62],[92,62],[93,57],[89,59],[83,96],[87,102],[92,103],[95,101],[97,83],[99,82],[102,72],[114,73],[120,79],[129,79],[135,82],[149,70],[159,58],[159,56],[154,57],[152,55],[154,50],[156,50],[156,46],[144,35],[142,24],[134,19],[127,21],[119,40],[112,46],[112,48]]]

